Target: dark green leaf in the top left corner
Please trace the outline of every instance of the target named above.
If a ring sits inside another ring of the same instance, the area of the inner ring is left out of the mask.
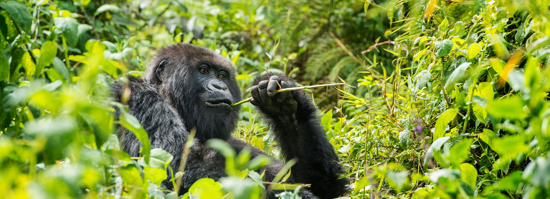
[[[0,3],[0,8],[3,8],[8,13],[9,17],[12,18],[22,31],[28,32],[31,30],[32,17],[25,3],[9,1],[7,3]]]

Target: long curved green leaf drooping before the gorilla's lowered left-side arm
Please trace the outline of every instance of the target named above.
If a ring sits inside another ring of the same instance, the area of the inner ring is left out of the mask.
[[[144,156],[144,161],[149,164],[149,159],[151,158],[151,143],[149,141],[149,135],[147,135],[147,132],[141,127],[139,120],[135,118],[134,115],[122,113],[120,116],[120,124],[133,132],[136,138],[139,139],[143,147],[141,152]]]

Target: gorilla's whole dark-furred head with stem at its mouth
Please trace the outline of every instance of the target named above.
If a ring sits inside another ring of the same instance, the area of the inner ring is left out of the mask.
[[[151,61],[146,79],[203,141],[226,139],[237,124],[240,101],[237,68],[212,50],[190,44],[162,48]]]

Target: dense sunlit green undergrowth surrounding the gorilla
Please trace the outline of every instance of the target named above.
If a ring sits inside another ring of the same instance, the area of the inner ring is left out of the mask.
[[[159,188],[172,156],[146,139],[143,157],[120,150],[114,126],[145,132],[114,121],[105,96],[184,42],[235,62],[245,91],[268,71],[354,86],[310,90],[353,179],[346,197],[548,198],[549,3],[2,1],[0,197],[177,197]],[[278,156],[243,109],[234,136]],[[246,154],[227,159],[228,178],[183,197],[296,197],[249,172]]]

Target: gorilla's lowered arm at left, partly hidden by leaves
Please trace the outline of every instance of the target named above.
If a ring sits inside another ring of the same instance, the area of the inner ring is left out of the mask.
[[[134,115],[145,128],[152,148],[162,148],[174,156],[170,163],[174,174],[178,171],[184,145],[189,137],[189,132],[175,110],[166,104],[158,94],[156,87],[144,80],[129,76],[128,82],[111,85],[111,101],[120,102],[124,89],[129,89],[128,113]],[[116,110],[115,116],[120,116],[120,110]],[[134,133],[124,130],[118,132],[123,143],[123,149],[130,156],[140,156],[141,142]],[[171,172],[167,169],[168,179],[162,182],[162,186],[173,189]],[[226,176],[224,173],[224,158],[217,151],[205,147],[195,140],[190,149],[185,166],[185,175],[180,185],[180,193],[185,193],[191,184],[200,178],[219,179]]]

